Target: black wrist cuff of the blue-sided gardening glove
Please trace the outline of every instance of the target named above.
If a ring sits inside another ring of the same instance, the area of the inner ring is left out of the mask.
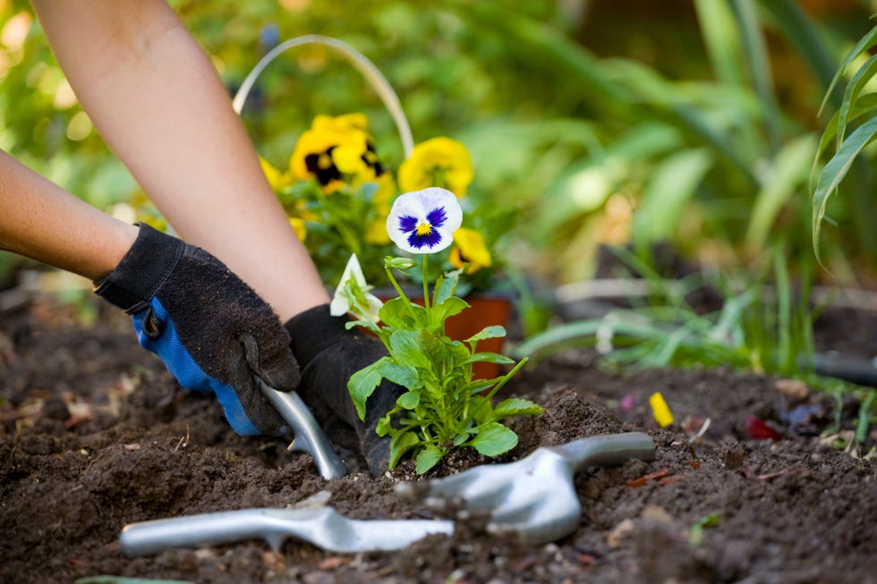
[[[115,269],[95,283],[94,292],[111,304],[134,314],[165,284],[183,257],[186,244],[140,224],[140,233]]]

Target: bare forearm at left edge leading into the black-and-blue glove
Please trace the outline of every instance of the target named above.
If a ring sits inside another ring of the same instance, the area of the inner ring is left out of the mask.
[[[0,249],[98,280],[137,227],[98,211],[0,152]]]

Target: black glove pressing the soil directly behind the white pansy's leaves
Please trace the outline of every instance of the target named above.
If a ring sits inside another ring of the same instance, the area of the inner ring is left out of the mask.
[[[358,329],[347,330],[347,317],[333,317],[328,304],[306,310],[286,323],[295,358],[302,368],[302,396],[314,416],[326,421],[326,411],[353,427],[359,447],[372,475],[387,470],[389,436],[375,434],[378,420],[396,407],[405,390],[383,380],[365,403],[365,420],[359,419],[347,381],[360,369],[387,355],[378,339]]]

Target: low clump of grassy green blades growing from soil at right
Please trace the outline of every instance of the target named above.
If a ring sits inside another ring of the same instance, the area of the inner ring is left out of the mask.
[[[633,253],[616,253],[645,279],[649,293],[631,299],[633,308],[613,309],[603,317],[536,334],[518,345],[515,355],[535,360],[567,346],[592,346],[605,364],[626,372],[729,366],[813,379],[813,320],[818,309],[811,306],[808,277],[793,289],[779,248],[773,249],[769,267],[756,279],[744,271],[737,276],[718,273],[710,282],[703,273],[668,281]],[[704,312],[686,300],[707,285],[723,299],[717,311]]]

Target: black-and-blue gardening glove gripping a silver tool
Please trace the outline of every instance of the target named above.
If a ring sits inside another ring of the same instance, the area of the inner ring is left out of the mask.
[[[289,431],[260,394],[254,375],[293,391],[298,364],[289,335],[268,304],[207,251],[149,225],[95,292],[131,314],[140,345],[183,387],[216,394],[242,436]]]

